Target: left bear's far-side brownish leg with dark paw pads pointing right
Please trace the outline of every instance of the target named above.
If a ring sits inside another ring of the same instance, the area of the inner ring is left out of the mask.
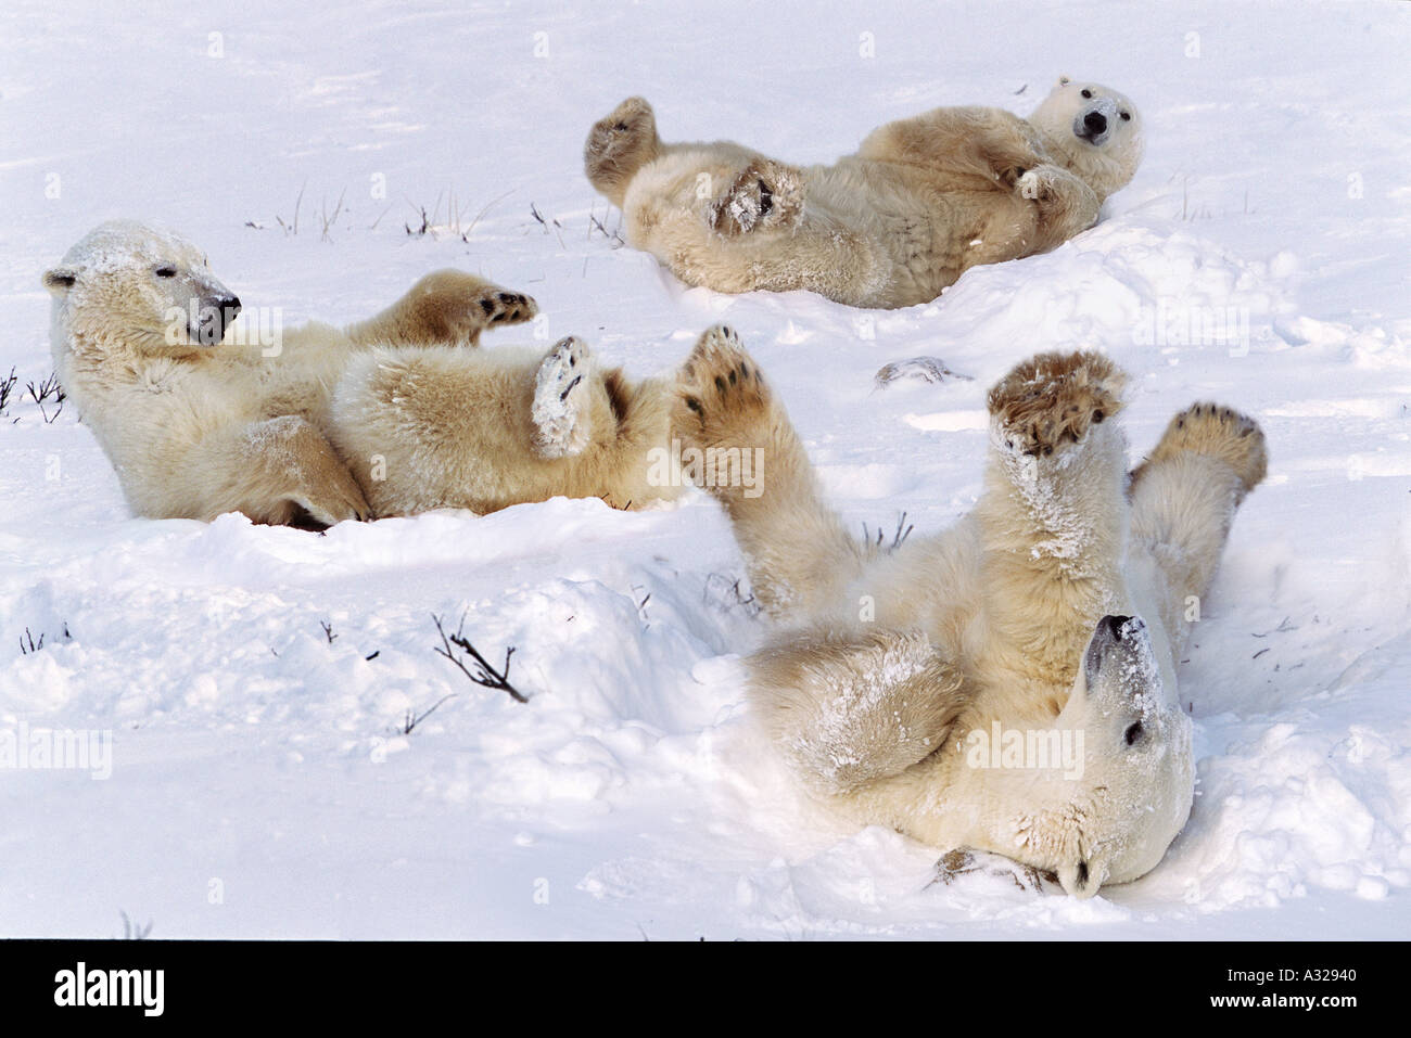
[[[435,271],[375,317],[351,324],[360,346],[478,346],[480,333],[533,320],[539,306],[522,292],[464,271]]]

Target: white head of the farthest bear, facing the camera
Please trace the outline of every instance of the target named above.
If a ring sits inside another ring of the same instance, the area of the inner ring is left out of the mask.
[[[1130,183],[1141,162],[1141,113],[1101,83],[1061,76],[1029,121],[1099,202]]]

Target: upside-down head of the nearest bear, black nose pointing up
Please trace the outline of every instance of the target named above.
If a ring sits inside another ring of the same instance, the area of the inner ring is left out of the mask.
[[[1168,691],[1141,618],[1103,616],[1057,721],[1084,736],[1081,776],[1047,783],[1020,826],[1041,834],[1046,867],[1075,897],[1154,869],[1191,814],[1191,721]]]

